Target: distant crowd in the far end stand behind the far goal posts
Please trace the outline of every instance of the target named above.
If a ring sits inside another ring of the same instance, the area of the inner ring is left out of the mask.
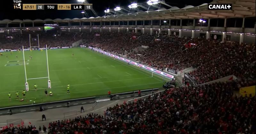
[[[9,35],[0,34],[0,49],[21,49],[29,48],[29,34],[30,34],[30,45],[32,47],[38,46],[39,34],[39,46],[45,47],[67,47],[72,46],[72,43],[80,40],[83,36],[81,33],[12,33]]]

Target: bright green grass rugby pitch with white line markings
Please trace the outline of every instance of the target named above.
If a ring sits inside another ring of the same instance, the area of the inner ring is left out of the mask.
[[[74,56],[72,54],[74,53]],[[6,58],[8,56],[8,58]],[[16,58],[18,56],[18,58]],[[29,56],[32,56],[31,60]],[[29,60],[29,61],[28,61]],[[47,77],[46,50],[25,51],[27,78]],[[90,96],[124,93],[163,85],[163,78],[151,72],[128,65],[117,59],[85,48],[48,50],[48,62],[52,88],[48,89],[48,78],[28,80],[29,91],[24,101],[16,100],[15,93],[25,89],[25,72],[22,52],[4,52],[0,56],[0,107],[69,100]],[[167,79],[166,79],[167,80]],[[38,90],[34,90],[34,84]],[[70,94],[67,94],[70,84]],[[45,96],[44,90],[53,96]],[[9,100],[8,93],[12,94]]]

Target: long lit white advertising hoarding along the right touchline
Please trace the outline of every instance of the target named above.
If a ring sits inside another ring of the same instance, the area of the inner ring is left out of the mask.
[[[133,64],[133,65],[136,65],[136,66],[139,66],[139,67],[141,67],[141,68],[144,68],[144,69],[146,69],[146,70],[148,70],[148,71],[155,72],[155,73],[160,74],[160,75],[162,75],[162,76],[165,76],[165,77],[168,77],[168,78],[171,78],[171,79],[174,78],[174,76],[172,76],[172,75],[170,75],[170,74],[164,73],[164,72],[162,72],[162,71],[158,71],[158,70],[156,70],[156,69],[153,69],[153,68],[151,68],[151,67],[142,65],[142,64],[140,64],[140,63],[136,63],[136,62],[134,62],[134,61],[131,61],[131,60],[128,60],[128,59],[125,59],[125,58],[122,58],[122,57],[119,57],[119,56],[110,54],[110,53],[108,53],[108,52],[99,50],[99,49],[97,49],[97,48],[92,48],[92,47],[90,47],[90,46],[89,46],[89,48],[92,49],[92,50],[94,50],[94,51],[96,51],[96,52],[100,52],[100,53],[105,54],[105,55],[107,55],[107,56],[115,57],[116,59],[119,59],[119,60],[121,60],[121,61],[130,63],[130,64]]]

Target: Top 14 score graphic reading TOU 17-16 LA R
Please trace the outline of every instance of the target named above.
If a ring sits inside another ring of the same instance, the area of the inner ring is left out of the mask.
[[[92,4],[21,4],[13,1],[16,10],[92,10]]]

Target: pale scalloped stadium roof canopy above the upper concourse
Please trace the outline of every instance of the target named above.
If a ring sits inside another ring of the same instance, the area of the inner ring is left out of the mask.
[[[74,18],[74,19],[25,19],[1,20],[0,23],[26,23],[26,22],[79,22],[79,21],[132,21],[132,20],[168,20],[168,19],[209,19],[209,18],[246,18],[255,17],[255,0],[214,0],[210,4],[232,4],[232,10],[208,10],[208,5],[188,5],[183,8],[161,7],[158,10],[137,10],[133,13],[109,14],[102,17]],[[159,6],[160,7],[160,6]]]

